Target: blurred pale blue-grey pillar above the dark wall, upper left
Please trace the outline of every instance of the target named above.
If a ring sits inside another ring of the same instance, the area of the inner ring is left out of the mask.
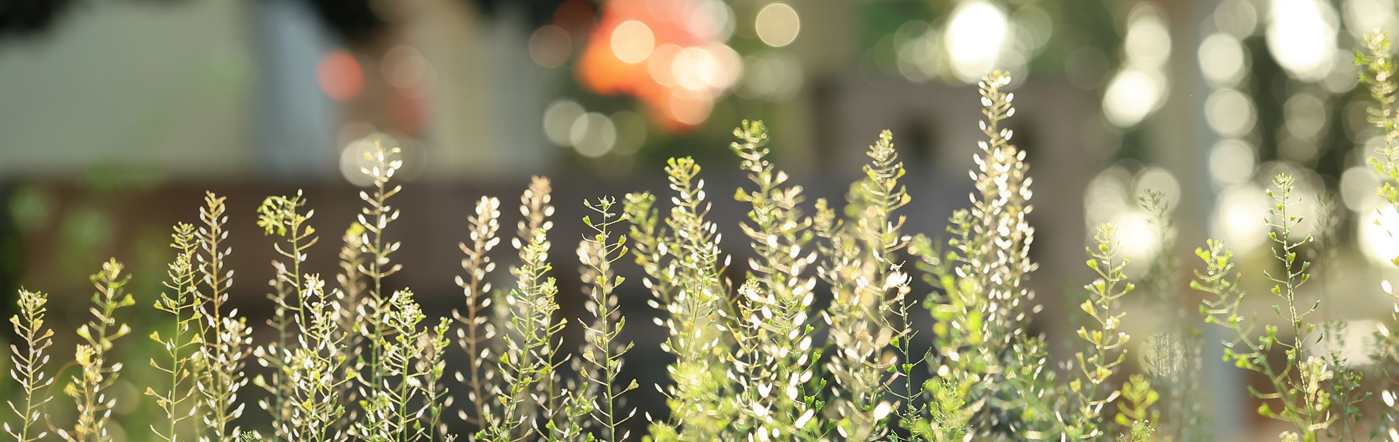
[[[316,81],[330,36],[306,1],[260,0],[253,8],[253,169],[280,180],[333,179],[337,106]]]

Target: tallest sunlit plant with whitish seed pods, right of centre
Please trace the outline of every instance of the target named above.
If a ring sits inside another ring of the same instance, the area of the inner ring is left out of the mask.
[[[1056,421],[1055,373],[1046,371],[1042,337],[1024,334],[1025,309],[1034,292],[1024,285],[1037,264],[1030,260],[1034,228],[1025,215],[1034,207],[1024,151],[1010,144],[1014,131],[1002,122],[1014,115],[1014,95],[1003,91],[1006,73],[978,83],[983,119],[978,129],[981,152],[971,171],[977,193],[972,208],[954,211],[946,255],[926,236],[915,236],[911,250],[925,281],[942,294],[928,298],[933,343],[930,364],[936,378],[925,383],[928,431],[933,441],[990,435],[1002,422],[1027,439],[1062,431]]]

